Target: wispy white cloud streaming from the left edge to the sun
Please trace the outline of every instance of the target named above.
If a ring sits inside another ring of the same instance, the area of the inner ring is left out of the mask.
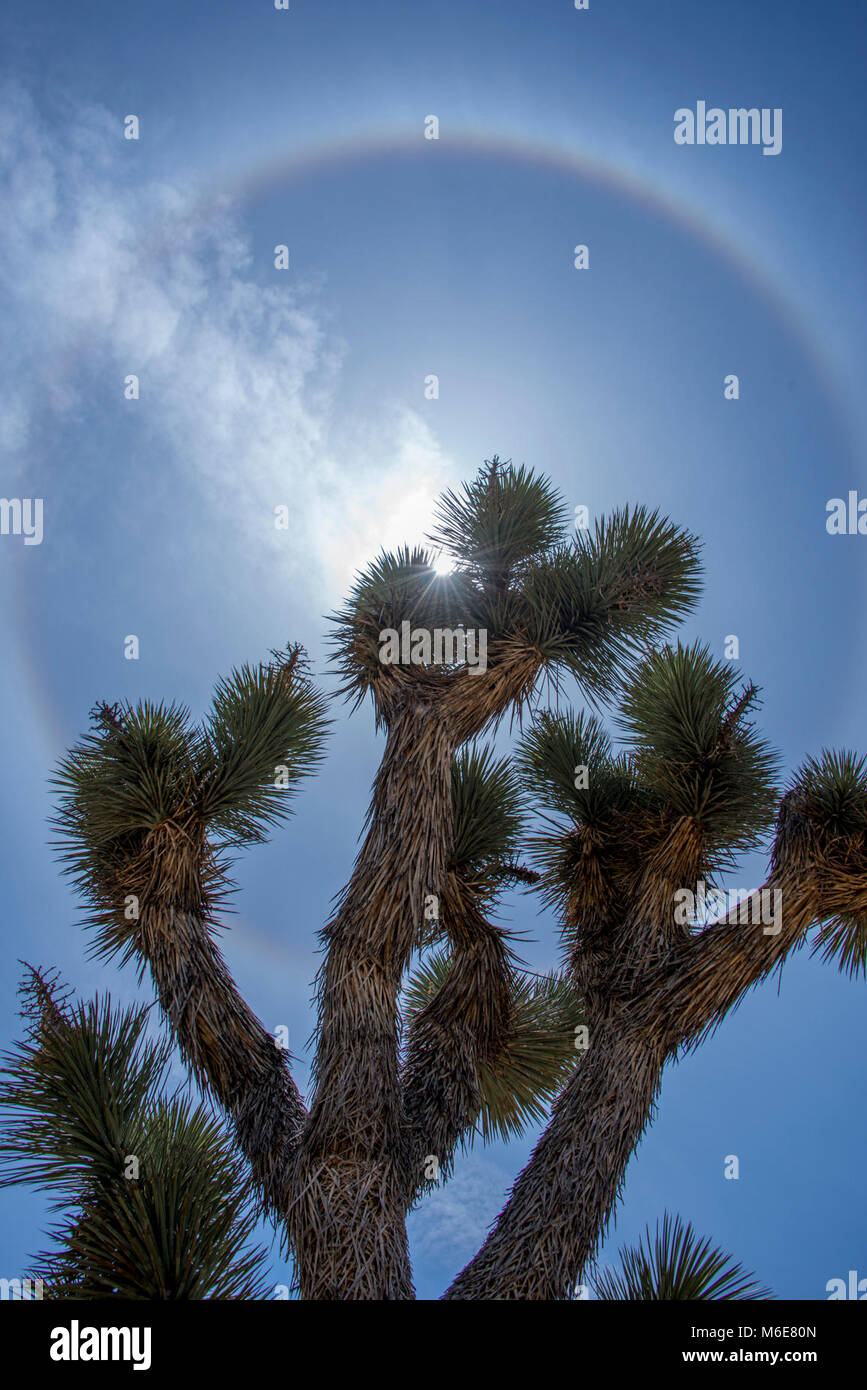
[[[333,596],[381,545],[424,537],[447,461],[404,402],[340,420],[346,343],[324,327],[322,278],[274,282],[238,208],[201,217],[195,190],[136,175],[125,143],[101,107],[47,117],[19,85],[0,93],[6,488],[69,431],[117,430],[135,374],[163,485],[182,478],[257,537],[263,567],[282,548]]]

